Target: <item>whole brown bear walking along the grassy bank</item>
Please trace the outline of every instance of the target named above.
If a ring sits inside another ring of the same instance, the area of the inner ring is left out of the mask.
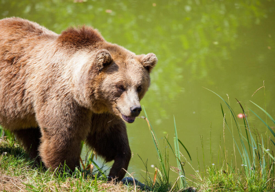
[[[0,20],[0,124],[45,167],[80,166],[85,141],[121,180],[131,158],[124,122],[140,115],[155,54],[135,55],[91,27],[58,35],[20,18]]]

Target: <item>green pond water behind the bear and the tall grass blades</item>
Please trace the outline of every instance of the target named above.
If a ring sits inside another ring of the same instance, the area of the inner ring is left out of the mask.
[[[228,94],[237,114],[241,108],[235,98],[263,119],[265,115],[250,100],[263,108],[266,103],[275,117],[275,1],[0,0],[0,19],[10,16],[35,21],[57,33],[69,26],[91,25],[111,43],[137,54],[155,53],[159,62],[141,103],[160,143],[166,134],[173,141],[175,115],[179,139],[188,148],[196,170],[197,154],[203,165],[200,136],[205,163],[211,165],[221,156],[223,134],[221,99],[203,87],[226,100]],[[261,88],[252,97],[263,81],[266,96]],[[228,111],[225,114],[230,118]],[[243,124],[241,119],[239,122]],[[250,117],[250,124],[265,134],[266,128],[256,117]],[[157,165],[157,154],[146,121],[137,119],[127,130],[133,152],[129,172],[141,179],[145,168],[137,154],[148,159],[150,172],[154,171],[151,165]],[[231,154],[232,137],[227,130],[225,145]],[[186,155],[184,149],[182,152]],[[170,163],[176,167],[174,160]],[[239,160],[237,165],[241,165]],[[194,174],[187,165],[186,174]]]

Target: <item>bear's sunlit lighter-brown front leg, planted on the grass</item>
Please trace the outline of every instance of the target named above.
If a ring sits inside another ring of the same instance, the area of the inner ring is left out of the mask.
[[[50,103],[36,114],[41,128],[39,155],[45,167],[56,169],[67,165],[72,171],[80,167],[80,143],[91,127],[91,112],[72,100]]]

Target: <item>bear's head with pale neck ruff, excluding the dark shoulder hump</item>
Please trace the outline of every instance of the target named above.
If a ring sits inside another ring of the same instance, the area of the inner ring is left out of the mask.
[[[76,99],[95,113],[109,112],[133,123],[142,110],[140,100],[150,85],[150,73],[157,57],[138,55],[118,45],[104,43],[91,58],[85,56],[77,84]]]

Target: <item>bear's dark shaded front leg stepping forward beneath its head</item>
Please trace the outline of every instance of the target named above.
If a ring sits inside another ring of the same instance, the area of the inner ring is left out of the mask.
[[[87,145],[94,148],[107,162],[115,160],[109,180],[122,180],[126,173],[124,169],[127,170],[131,159],[125,123],[113,115],[99,114],[93,115],[91,124]]]

